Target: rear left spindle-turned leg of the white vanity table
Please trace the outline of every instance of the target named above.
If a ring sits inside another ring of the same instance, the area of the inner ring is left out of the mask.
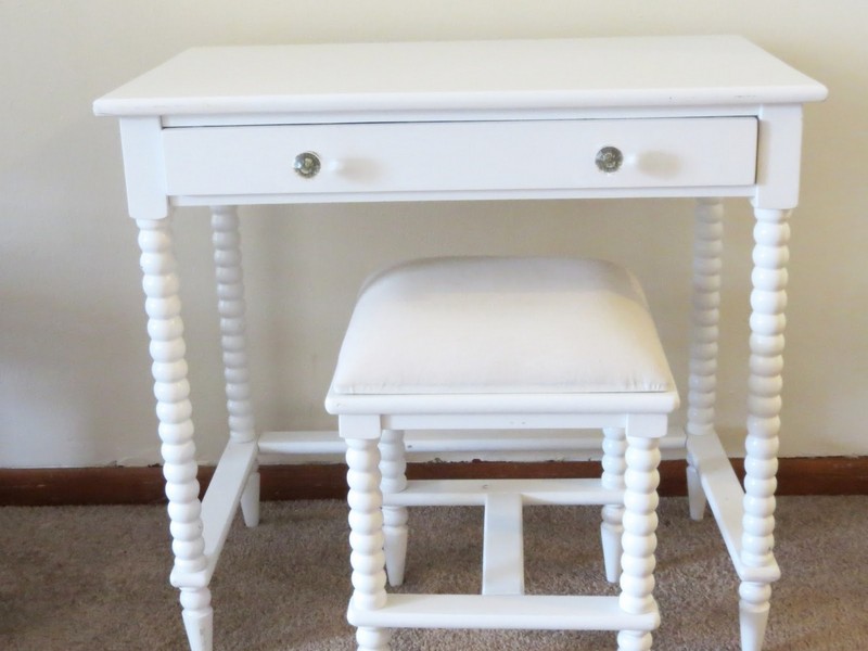
[[[212,208],[212,231],[229,436],[233,442],[248,443],[256,438],[256,427],[251,405],[246,306],[237,208],[233,206]],[[255,465],[241,496],[241,511],[247,526],[256,526],[259,523],[259,472]]]

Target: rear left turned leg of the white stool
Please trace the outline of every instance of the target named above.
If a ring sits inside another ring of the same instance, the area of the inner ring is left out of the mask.
[[[407,487],[406,470],[404,432],[383,430],[380,438],[380,487],[383,495],[400,493]],[[388,583],[399,586],[404,583],[407,561],[407,507],[383,507],[383,533]]]

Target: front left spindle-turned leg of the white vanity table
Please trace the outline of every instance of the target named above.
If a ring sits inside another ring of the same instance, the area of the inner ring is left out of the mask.
[[[163,474],[175,552],[173,585],[181,588],[181,605],[190,648],[210,651],[213,611],[207,587],[189,586],[188,577],[207,569],[202,536],[202,505],[196,481],[190,384],[187,381],[181,302],[178,297],[169,219],[138,220],[142,285],[151,336],[152,372]],[[200,583],[193,580],[193,583]]]

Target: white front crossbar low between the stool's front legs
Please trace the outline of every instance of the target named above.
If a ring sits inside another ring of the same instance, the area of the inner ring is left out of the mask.
[[[350,604],[347,618],[390,628],[653,630],[660,624],[656,607],[637,615],[622,610],[617,597],[542,595],[390,595],[376,610]]]

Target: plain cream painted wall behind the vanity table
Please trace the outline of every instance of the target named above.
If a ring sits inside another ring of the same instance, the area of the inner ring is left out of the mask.
[[[197,44],[738,33],[825,82],[793,218],[781,452],[868,454],[868,4],[863,0],[0,0],[0,467],[158,460],[116,124],[91,101]],[[728,202],[720,430],[738,454],[752,217]],[[642,278],[684,378],[689,202],[245,210],[260,429],[320,429],[360,280],[412,254],[574,253]],[[207,221],[178,215],[203,461],[224,438]],[[681,390],[685,386],[681,382]]]

